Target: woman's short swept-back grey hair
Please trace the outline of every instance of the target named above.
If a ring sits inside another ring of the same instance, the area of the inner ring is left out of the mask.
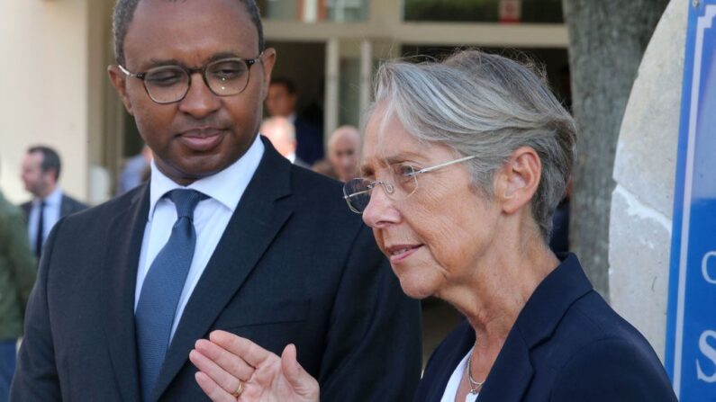
[[[532,65],[479,50],[442,62],[384,63],[376,73],[376,100],[364,121],[385,105],[383,121],[396,117],[422,143],[440,143],[458,155],[477,156],[470,166],[476,190],[494,197],[494,173],[516,149],[531,147],[542,174],[530,201],[547,242],[552,214],[565,195],[576,155],[576,125]]]

